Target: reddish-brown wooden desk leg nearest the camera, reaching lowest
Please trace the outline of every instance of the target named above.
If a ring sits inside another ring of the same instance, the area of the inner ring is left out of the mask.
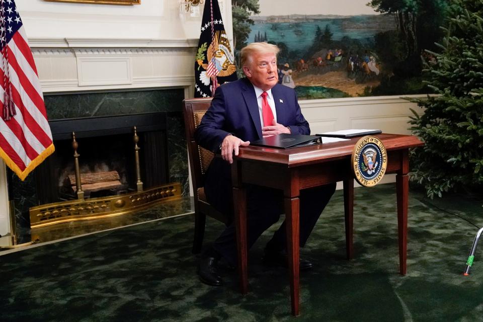
[[[290,273],[290,297],[292,300],[292,314],[299,315],[299,205],[298,197],[285,197],[285,220],[287,227],[287,252]]]

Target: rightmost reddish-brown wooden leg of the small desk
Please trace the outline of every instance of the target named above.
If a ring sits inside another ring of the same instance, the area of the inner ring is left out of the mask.
[[[399,273],[406,275],[408,253],[408,194],[409,176],[396,175],[397,232],[399,237]]]

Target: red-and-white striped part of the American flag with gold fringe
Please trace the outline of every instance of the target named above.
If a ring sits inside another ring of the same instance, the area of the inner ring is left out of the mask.
[[[7,44],[7,50],[8,75],[17,114],[9,121],[0,119],[0,149],[7,165],[23,180],[53,152],[52,134],[37,69],[23,27]],[[3,77],[4,70],[0,66],[0,79]],[[3,109],[4,92],[5,89],[0,86],[0,111]]]

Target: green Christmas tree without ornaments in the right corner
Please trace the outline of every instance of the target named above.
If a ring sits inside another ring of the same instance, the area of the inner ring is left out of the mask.
[[[426,82],[436,96],[410,123],[425,146],[411,154],[412,180],[429,197],[483,186],[483,1],[454,0],[439,53],[426,51]]]

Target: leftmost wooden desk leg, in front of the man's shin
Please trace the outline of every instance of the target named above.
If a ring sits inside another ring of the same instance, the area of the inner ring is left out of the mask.
[[[247,193],[245,188],[233,188],[233,203],[235,205],[236,249],[238,253],[238,275],[240,277],[240,290],[241,294],[247,294]]]

